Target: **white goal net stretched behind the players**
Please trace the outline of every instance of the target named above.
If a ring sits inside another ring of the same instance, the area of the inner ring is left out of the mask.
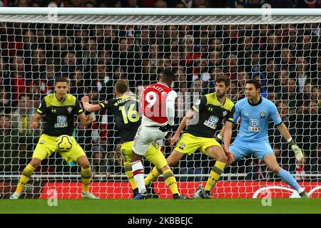
[[[31,161],[41,129],[32,130],[29,124],[41,99],[53,93],[55,78],[68,77],[71,94],[79,100],[89,95],[92,103],[98,103],[113,98],[113,85],[122,78],[128,80],[131,93],[139,94],[142,86],[158,81],[163,68],[175,73],[175,129],[200,95],[215,91],[215,77],[230,77],[228,96],[234,103],[245,97],[247,79],[260,79],[261,95],[277,105],[305,155],[303,162],[296,162],[270,122],[269,140],[277,162],[310,196],[321,196],[321,16],[312,11],[273,14],[272,9],[267,14],[256,9],[51,10],[1,11],[1,197],[14,192]],[[102,198],[131,198],[113,116],[101,112],[93,116],[91,128],[77,122],[74,131],[92,165],[91,192]],[[236,133],[235,128],[233,139]],[[171,152],[169,138],[158,141],[165,157]],[[192,196],[199,185],[205,185],[214,164],[199,151],[183,157],[173,167],[180,192]],[[146,174],[153,168],[147,160],[143,165]],[[154,188],[160,197],[171,197],[162,176]],[[53,190],[60,198],[81,197],[80,167],[58,153],[41,162],[21,198],[46,198]],[[269,193],[297,197],[255,157],[227,167],[212,190],[213,197]]]

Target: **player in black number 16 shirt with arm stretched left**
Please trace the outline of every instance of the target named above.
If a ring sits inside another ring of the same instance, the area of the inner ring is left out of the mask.
[[[133,178],[131,154],[133,139],[135,138],[138,127],[141,125],[141,117],[138,113],[139,99],[135,96],[126,95],[128,93],[128,89],[128,82],[125,80],[119,80],[115,83],[114,93],[116,95],[116,99],[102,102],[99,105],[91,105],[89,104],[88,96],[84,96],[81,98],[81,102],[83,103],[83,108],[89,112],[108,110],[108,113],[114,115],[115,122],[117,123],[118,130],[121,135],[121,156],[123,157],[123,166],[125,168],[126,176],[133,188],[133,196],[135,198],[136,195],[138,195],[138,187]],[[153,143],[148,148],[146,159],[155,165],[158,170],[163,172],[165,183],[168,185],[173,197],[175,199],[186,199],[185,196],[179,195],[175,177],[173,177],[173,172],[170,170],[160,147],[156,143]],[[150,182],[145,182],[147,186],[149,183]],[[148,195],[148,197],[156,197],[156,195],[153,195],[153,192],[151,193],[152,195]]]

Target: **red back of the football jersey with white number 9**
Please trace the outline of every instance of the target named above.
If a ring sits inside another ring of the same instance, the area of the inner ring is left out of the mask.
[[[145,86],[141,93],[141,113],[156,123],[166,123],[166,98],[172,91],[165,83]]]

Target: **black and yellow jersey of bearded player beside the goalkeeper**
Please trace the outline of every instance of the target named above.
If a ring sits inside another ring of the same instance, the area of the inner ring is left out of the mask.
[[[195,112],[195,124],[188,125],[186,133],[197,137],[213,138],[223,128],[223,120],[233,122],[235,106],[229,98],[222,104],[216,93],[203,95],[192,110]],[[198,120],[198,121],[197,121]]]

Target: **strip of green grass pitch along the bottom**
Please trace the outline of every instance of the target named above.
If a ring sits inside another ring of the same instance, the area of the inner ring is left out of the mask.
[[[14,214],[321,214],[321,199],[58,199],[49,207],[46,199],[0,199],[0,213]]]

